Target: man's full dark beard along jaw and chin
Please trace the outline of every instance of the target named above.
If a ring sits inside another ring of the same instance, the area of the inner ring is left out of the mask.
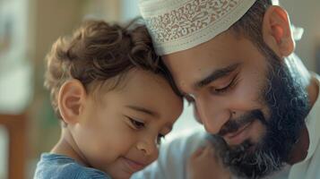
[[[269,57],[272,62],[268,68],[267,82],[261,90],[261,100],[268,107],[270,116],[266,118],[262,110],[254,109],[238,119],[229,120],[219,134],[210,136],[223,163],[240,177],[261,178],[280,170],[299,139],[310,109],[301,77],[292,76],[274,53]],[[229,147],[221,137],[255,120],[264,124],[266,129],[259,142],[247,140],[237,147]]]

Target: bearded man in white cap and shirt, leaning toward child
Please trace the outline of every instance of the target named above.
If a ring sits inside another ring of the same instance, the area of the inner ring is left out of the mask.
[[[206,133],[169,141],[136,177],[228,178],[227,169],[235,178],[320,178],[319,78],[294,54],[301,34],[281,6],[271,0],[139,5],[157,54]],[[213,152],[197,149],[203,139]]]

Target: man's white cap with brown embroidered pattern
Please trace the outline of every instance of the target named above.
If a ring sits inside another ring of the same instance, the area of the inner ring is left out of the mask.
[[[195,47],[228,30],[255,0],[139,0],[158,55]]]

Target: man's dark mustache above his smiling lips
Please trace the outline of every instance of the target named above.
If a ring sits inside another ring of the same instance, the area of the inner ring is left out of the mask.
[[[260,109],[254,109],[236,119],[229,119],[228,122],[222,126],[218,135],[222,137],[227,133],[237,132],[238,129],[246,124],[253,123],[255,120],[259,120],[262,124],[267,124],[264,113]]]

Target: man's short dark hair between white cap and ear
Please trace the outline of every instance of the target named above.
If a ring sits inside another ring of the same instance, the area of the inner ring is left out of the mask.
[[[263,38],[264,13],[272,5],[272,0],[256,0],[242,18],[230,28],[237,35],[249,39],[264,55],[266,55]]]

